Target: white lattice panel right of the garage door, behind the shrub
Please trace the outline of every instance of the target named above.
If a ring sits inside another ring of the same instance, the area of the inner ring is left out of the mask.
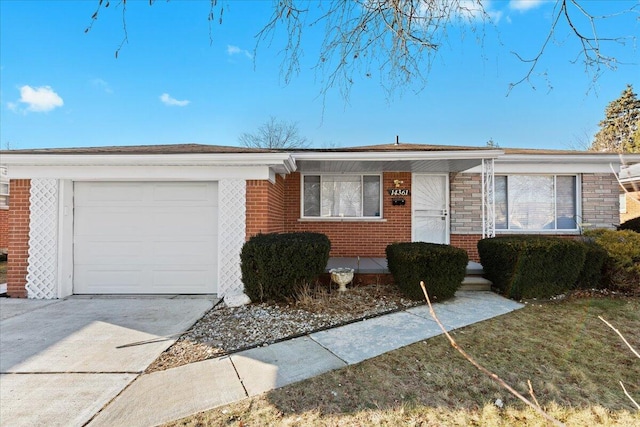
[[[227,305],[247,304],[240,271],[240,251],[245,241],[246,181],[222,179],[218,182],[218,295]]]

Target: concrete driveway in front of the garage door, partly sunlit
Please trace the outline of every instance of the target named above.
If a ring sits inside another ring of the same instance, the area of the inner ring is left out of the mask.
[[[0,298],[0,425],[84,425],[213,303]]]

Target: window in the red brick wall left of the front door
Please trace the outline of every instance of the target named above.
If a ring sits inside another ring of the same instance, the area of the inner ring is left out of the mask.
[[[380,175],[304,175],[302,216],[380,218]]]

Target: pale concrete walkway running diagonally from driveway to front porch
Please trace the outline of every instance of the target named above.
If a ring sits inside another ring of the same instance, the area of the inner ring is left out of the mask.
[[[464,291],[434,306],[449,330],[522,307],[491,292]],[[141,375],[89,426],[154,426],[359,363],[441,333],[428,307],[420,306],[231,356]]]

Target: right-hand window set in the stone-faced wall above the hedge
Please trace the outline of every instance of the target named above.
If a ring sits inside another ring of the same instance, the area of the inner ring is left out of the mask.
[[[576,176],[496,176],[495,189],[496,229],[578,228]]]

